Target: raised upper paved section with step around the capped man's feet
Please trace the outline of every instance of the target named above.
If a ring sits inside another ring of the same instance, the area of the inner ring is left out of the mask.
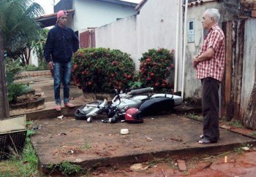
[[[17,111],[17,114],[26,114],[27,119],[44,119],[44,118],[53,118],[58,117],[60,115],[72,116],[74,115],[75,109],[79,106],[86,103],[83,91],[80,90],[75,85],[70,86],[70,103],[73,103],[75,107],[73,109],[64,108],[64,104],[62,103],[61,112],[55,111],[54,107],[56,105],[54,101],[53,95],[53,78],[49,74],[39,75],[37,72],[29,73],[30,76],[26,76],[23,79],[16,80],[18,83],[28,83],[31,88],[36,91],[36,95],[41,95],[42,98],[45,98],[45,106],[40,108],[39,110],[22,110]],[[35,75],[35,76],[34,76]],[[61,98],[63,98],[63,89],[61,87]],[[14,111],[15,112],[15,111]],[[11,116],[15,116],[17,114],[12,114]]]

